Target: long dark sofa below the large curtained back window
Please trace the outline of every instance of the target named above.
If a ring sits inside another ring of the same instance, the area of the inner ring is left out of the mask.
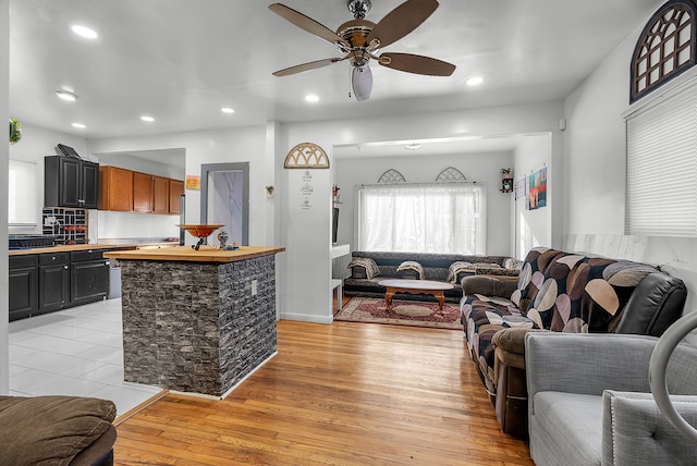
[[[496,274],[515,282],[521,266],[519,260],[505,256],[355,250],[348,263],[351,277],[344,280],[344,293],[347,296],[383,297],[384,286],[378,284],[381,280],[435,280],[452,283],[454,289],[445,291],[445,301],[458,303],[463,277]],[[401,294],[402,298],[428,299],[423,295]]]

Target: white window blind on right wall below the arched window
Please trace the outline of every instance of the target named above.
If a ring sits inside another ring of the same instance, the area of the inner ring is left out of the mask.
[[[627,234],[697,236],[697,85],[627,118]]]

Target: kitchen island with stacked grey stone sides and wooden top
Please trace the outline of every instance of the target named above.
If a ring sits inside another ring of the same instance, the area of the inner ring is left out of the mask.
[[[121,266],[127,382],[224,396],[277,352],[282,247],[106,253]]]

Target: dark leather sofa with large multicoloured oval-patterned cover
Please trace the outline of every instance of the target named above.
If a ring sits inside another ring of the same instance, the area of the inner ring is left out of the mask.
[[[466,277],[462,289],[469,353],[501,429],[519,437],[527,433],[527,332],[660,336],[687,296],[682,280],[657,267],[549,248],[528,253],[517,282]]]

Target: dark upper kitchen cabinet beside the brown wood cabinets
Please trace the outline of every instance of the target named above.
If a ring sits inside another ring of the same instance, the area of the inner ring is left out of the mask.
[[[74,157],[44,158],[44,206],[96,209],[99,164]]]

